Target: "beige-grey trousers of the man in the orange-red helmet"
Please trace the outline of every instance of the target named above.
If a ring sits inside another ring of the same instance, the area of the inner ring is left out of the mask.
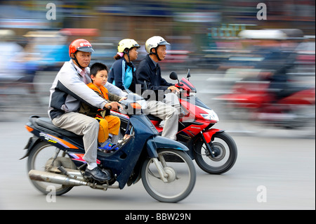
[[[84,150],[86,151],[83,159],[88,164],[96,163],[99,133],[99,122],[97,119],[77,112],[68,112],[55,117],[52,122],[61,129],[83,136]]]

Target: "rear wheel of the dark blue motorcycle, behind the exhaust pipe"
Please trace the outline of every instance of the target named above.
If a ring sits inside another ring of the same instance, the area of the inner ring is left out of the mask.
[[[47,171],[47,167],[51,164],[52,158],[54,157],[56,150],[56,147],[46,142],[40,142],[37,145],[35,145],[27,159],[27,172],[29,172],[30,170]],[[60,153],[58,154],[58,157],[57,159],[55,159],[53,166],[58,166],[60,165],[61,161],[65,161],[65,159],[70,159],[69,157],[61,156],[61,153],[62,151],[60,151]],[[67,163],[62,162],[62,166],[64,166],[64,168],[66,169],[76,169],[76,166],[74,166],[74,164],[71,161]],[[65,193],[72,190],[73,187],[55,183],[47,183],[37,180],[31,180],[31,182],[34,185],[34,187],[37,188],[37,190],[43,192],[45,195],[52,191],[54,191],[55,195],[64,195]]]

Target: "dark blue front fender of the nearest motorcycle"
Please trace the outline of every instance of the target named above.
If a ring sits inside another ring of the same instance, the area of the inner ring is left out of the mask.
[[[170,138],[164,138],[162,136],[153,136],[147,140],[147,152],[150,158],[157,158],[157,149],[174,149],[188,151],[189,149],[182,143]]]

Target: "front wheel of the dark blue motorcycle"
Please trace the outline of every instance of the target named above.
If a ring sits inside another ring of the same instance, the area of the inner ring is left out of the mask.
[[[197,174],[192,159],[183,151],[157,150],[158,161],[166,173],[163,181],[153,158],[143,163],[141,178],[145,190],[159,202],[179,202],[185,199],[195,186]]]

